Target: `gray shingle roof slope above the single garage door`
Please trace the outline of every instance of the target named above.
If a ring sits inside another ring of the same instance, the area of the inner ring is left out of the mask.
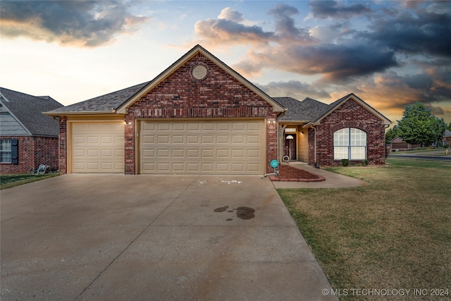
[[[52,112],[89,112],[89,111],[113,111],[118,109],[121,104],[140,92],[149,82],[143,82],[140,85],[125,88],[99,97],[87,99],[84,102],[70,104]]]

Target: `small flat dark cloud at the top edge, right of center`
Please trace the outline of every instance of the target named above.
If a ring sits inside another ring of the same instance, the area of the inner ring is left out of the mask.
[[[367,5],[368,2],[351,3],[351,5],[346,6],[342,1],[311,1],[309,6],[311,15],[319,19],[347,19],[364,13],[371,13],[371,8]]]

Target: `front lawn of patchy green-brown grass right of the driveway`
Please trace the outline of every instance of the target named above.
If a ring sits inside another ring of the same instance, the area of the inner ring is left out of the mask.
[[[279,189],[340,300],[352,289],[443,289],[451,298],[451,164],[388,159],[390,166],[333,171],[370,185]],[[424,292],[424,291],[423,291]],[[424,300],[425,296],[390,296]],[[375,298],[375,297],[373,297]]]

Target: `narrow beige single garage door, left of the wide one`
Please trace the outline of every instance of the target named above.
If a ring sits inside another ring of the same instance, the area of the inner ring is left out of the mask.
[[[73,173],[123,173],[124,123],[72,123]]]

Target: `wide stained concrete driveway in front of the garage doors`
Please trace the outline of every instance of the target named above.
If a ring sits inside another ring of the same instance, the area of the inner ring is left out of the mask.
[[[336,298],[268,178],[70,174],[1,191],[1,300]]]

